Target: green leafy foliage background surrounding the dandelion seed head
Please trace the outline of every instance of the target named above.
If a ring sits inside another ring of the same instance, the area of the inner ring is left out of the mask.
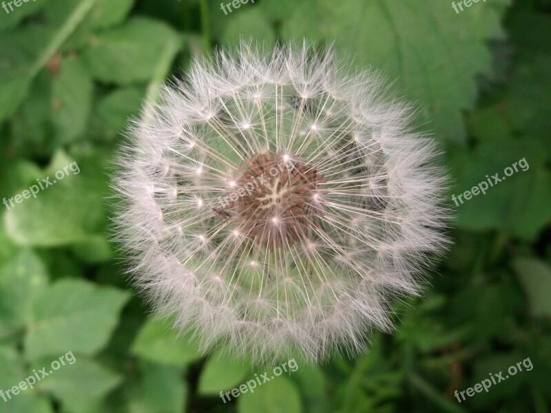
[[[67,177],[1,207],[0,389],[72,351],[77,359],[0,412],[551,411],[551,1],[37,0],[0,10],[0,197],[76,160]],[[300,366],[253,394],[227,391],[278,366],[201,357],[149,316],[108,241],[111,161],[129,116],[194,56],[240,36],[334,42],[418,107],[462,193],[526,158],[455,208],[455,244],[397,331],[371,351]],[[526,358],[463,403],[453,396]]]

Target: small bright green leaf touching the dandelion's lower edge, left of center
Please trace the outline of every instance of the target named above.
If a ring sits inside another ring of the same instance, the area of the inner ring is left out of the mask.
[[[244,360],[232,359],[221,351],[215,352],[201,370],[198,392],[202,395],[218,395],[220,391],[243,383],[250,371]]]

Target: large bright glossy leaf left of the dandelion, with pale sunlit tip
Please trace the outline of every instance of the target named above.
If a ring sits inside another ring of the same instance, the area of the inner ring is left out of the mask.
[[[109,189],[101,167],[106,162],[103,153],[79,156],[78,161],[56,153],[50,167],[36,177],[40,182],[50,178],[50,185],[43,182],[43,189],[34,189],[36,198],[23,199],[6,211],[4,223],[12,240],[27,246],[60,246],[103,231]],[[38,185],[36,180],[29,186]]]

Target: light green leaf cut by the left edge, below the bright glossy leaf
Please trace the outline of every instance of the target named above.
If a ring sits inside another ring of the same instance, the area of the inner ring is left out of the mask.
[[[47,284],[46,268],[31,251],[0,266],[0,325],[26,326],[32,319],[32,301]]]

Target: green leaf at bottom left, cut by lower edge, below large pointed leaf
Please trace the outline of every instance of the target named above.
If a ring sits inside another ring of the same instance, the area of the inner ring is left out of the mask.
[[[59,370],[50,370],[48,377],[39,381],[37,388],[52,393],[61,401],[66,412],[97,411],[94,410],[94,404],[116,388],[122,377],[92,359],[80,355],[75,359],[73,364],[65,363]],[[49,366],[51,362],[52,360],[45,360],[34,363],[34,367],[39,370],[43,366]]]

